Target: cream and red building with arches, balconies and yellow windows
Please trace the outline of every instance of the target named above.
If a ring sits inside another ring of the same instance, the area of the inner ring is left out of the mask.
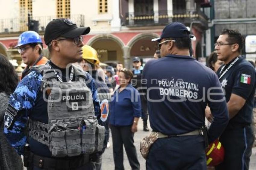
[[[157,44],[151,39],[159,37],[171,22],[184,23],[196,36],[193,56],[204,54],[208,17],[201,9],[209,5],[208,0],[0,0],[3,3],[0,53],[5,55],[19,34],[28,29],[28,15],[34,25],[38,24],[42,39],[45,26],[54,18],[70,18],[78,26],[90,26],[84,44],[98,51],[101,62],[120,62],[126,68],[131,68],[135,56],[143,62],[152,58]]]

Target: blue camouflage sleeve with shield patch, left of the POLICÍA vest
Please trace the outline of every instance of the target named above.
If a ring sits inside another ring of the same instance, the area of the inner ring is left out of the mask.
[[[36,71],[25,76],[14,93],[11,95],[8,108],[5,112],[4,134],[9,143],[19,154],[23,154],[23,146],[27,140],[25,126],[28,118],[28,111],[35,105],[37,93],[40,89],[42,75]],[[15,112],[12,116],[12,112]]]

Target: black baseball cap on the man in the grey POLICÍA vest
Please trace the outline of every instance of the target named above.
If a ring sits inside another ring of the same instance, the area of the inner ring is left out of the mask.
[[[59,36],[65,38],[76,38],[90,32],[90,27],[77,27],[76,23],[68,18],[58,18],[50,21],[45,28],[45,44]]]

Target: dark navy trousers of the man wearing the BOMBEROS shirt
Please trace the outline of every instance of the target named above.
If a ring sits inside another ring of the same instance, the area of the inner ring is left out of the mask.
[[[206,170],[204,139],[201,135],[159,138],[152,144],[147,170]]]

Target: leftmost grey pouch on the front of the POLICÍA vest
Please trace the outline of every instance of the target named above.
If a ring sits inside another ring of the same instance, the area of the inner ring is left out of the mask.
[[[51,133],[50,150],[52,151],[52,156],[67,156],[65,131],[56,131]]]

